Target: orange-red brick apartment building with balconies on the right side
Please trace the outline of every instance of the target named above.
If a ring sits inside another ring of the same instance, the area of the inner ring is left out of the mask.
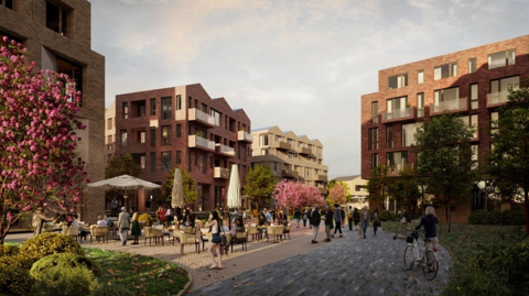
[[[509,87],[527,78],[529,35],[379,70],[378,92],[361,96],[361,177],[378,164],[393,175],[414,168],[410,145],[417,128],[444,111],[475,128],[472,146],[483,164],[497,108]],[[460,207],[453,221],[466,221],[471,206]]]

